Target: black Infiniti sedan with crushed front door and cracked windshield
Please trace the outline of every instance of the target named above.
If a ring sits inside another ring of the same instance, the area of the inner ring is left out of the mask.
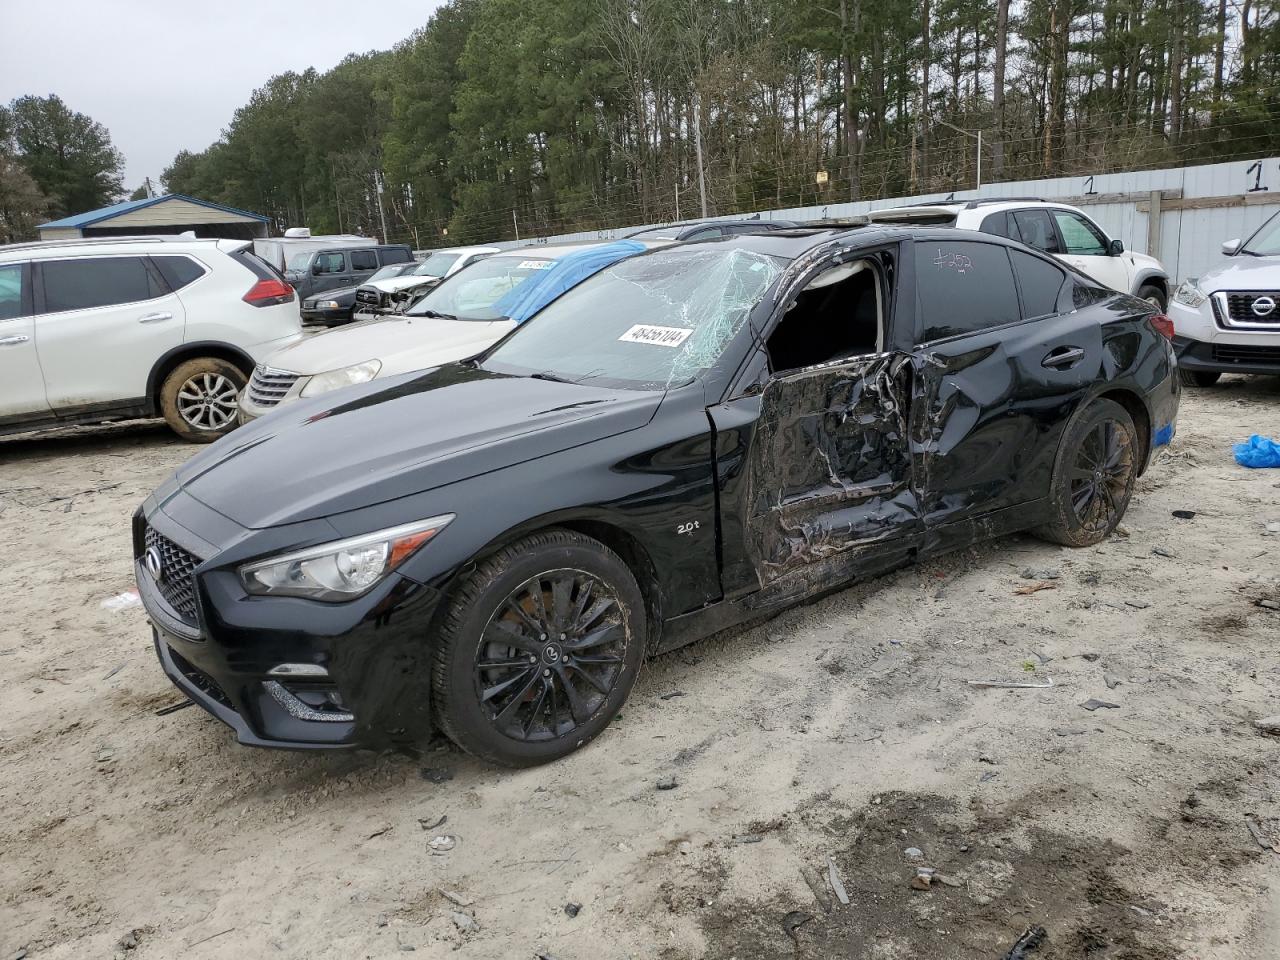
[[[156,652],[244,744],[563,756],[646,655],[1014,530],[1105,538],[1172,436],[1170,334],[954,229],[657,250],[179,468],[134,518]]]

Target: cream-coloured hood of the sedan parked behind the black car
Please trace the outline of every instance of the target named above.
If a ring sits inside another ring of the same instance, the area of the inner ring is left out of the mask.
[[[276,351],[266,358],[266,365],[312,376],[379,360],[383,364],[379,375],[390,376],[465,360],[495,343],[513,326],[509,320],[486,323],[428,316],[365,320]]]

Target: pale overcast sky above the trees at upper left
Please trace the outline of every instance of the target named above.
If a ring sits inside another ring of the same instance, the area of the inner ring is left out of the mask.
[[[111,132],[128,191],[204,150],[273,74],[385,50],[442,0],[0,0],[0,102],[56,93]]]

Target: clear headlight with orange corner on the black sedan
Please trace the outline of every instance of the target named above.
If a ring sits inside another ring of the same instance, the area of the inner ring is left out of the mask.
[[[422,544],[444,530],[453,513],[379,530],[349,540],[246,563],[241,582],[251,594],[307,596],[312,600],[351,600],[403,563]]]

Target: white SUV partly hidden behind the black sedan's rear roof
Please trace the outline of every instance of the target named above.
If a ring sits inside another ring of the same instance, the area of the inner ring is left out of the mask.
[[[1169,274],[1160,261],[1125,250],[1083,211],[1044,200],[957,200],[873,210],[872,220],[925,223],[993,233],[1056,256],[1114,291],[1132,293],[1158,310],[1169,306]]]

